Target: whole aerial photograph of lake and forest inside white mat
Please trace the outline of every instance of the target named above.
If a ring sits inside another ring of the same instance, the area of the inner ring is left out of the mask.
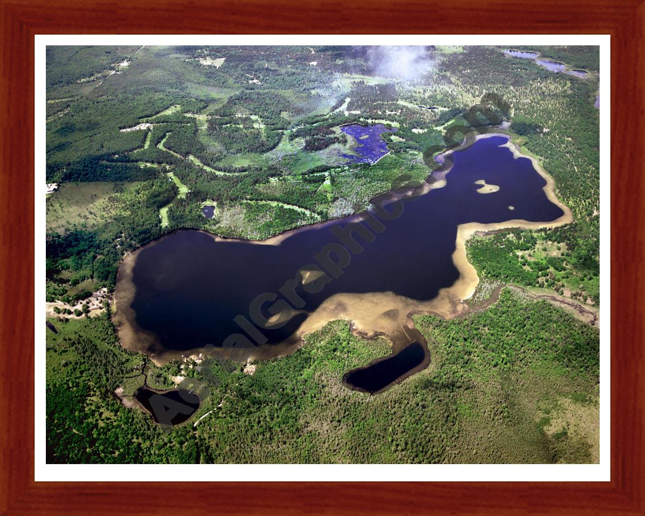
[[[303,43],[47,46],[46,462],[598,464],[599,46]]]

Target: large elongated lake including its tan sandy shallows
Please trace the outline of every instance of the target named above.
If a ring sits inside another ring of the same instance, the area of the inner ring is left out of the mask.
[[[393,352],[412,341],[426,346],[410,333],[409,314],[460,279],[453,261],[460,224],[546,223],[564,213],[530,159],[501,146],[507,141],[493,135],[455,152],[446,184],[399,203],[398,217],[387,215],[395,206],[383,200],[387,195],[375,199],[384,211],[360,232],[349,232],[349,219],[336,219],[273,244],[179,230],[144,246],[119,268],[121,342],[157,357],[210,344],[235,350],[239,360],[270,358],[297,348],[312,321],[371,316]],[[481,181],[497,190],[483,195]]]

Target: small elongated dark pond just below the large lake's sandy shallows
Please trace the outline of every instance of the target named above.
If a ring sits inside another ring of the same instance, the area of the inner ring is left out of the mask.
[[[369,393],[379,392],[392,382],[401,381],[406,373],[421,365],[425,357],[423,344],[412,342],[395,355],[347,373],[343,380],[358,390]]]

